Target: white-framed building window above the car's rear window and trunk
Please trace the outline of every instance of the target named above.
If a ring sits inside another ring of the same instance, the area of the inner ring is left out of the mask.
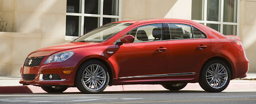
[[[238,0],[192,0],[191,20],[224,35],[239,36]]]

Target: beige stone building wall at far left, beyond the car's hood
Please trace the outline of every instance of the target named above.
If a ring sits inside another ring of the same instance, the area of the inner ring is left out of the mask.
[[[0,0],[8,32],[0,32],[0,75],[20,75],[26,56],[65,41],[66,0]]]

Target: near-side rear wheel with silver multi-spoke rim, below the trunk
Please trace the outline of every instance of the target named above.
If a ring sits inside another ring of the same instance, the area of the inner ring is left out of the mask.
[[[207,92],[218,93],[227,88],[230,76],[230,70],[224,62],[211,60],[202,68],[199,84]]]

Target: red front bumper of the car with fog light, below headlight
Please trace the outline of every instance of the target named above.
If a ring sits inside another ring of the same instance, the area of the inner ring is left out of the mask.
[[[74,86],[76,61],[66,60],[65,62],[55,62],[45,65],[43,62],[38,67],[21,67],[20,73],[22,74],[22,79],[20,79],[20,84],[31,84],[35,86]],[[65,74],[64,71],[70,71],[70,73]],[[60,79],[45,80],[42,79],[44,74],[59,75]],[[24,75],[33,75],[33,79],[27,79]]]

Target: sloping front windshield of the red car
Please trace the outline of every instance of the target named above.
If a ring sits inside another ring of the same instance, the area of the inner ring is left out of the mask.
[[[132,25],[131,23],[111,23],[99,27],[83,36],[77,38],[73,42],[104,42],[110,37],[115,36],[118,32]]]

